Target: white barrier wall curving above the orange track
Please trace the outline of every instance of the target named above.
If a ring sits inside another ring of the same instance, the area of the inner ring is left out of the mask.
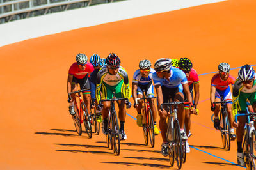
[[[81,27],[169,12],[225,0],[127,0],[0,24],[0,47]]]

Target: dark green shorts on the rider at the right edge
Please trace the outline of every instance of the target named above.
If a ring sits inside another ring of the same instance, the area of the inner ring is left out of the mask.
[[[250,101],[250,104],[253,105],[256,102],[256,92],[254,93],[243,93],[240,91],[237,110],[246,111],[247,99]]]

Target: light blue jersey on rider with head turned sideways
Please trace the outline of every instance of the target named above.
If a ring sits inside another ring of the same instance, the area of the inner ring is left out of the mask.
[[[154,86],[156,85],[161,85],[165,86],[166,88],[177,88],[179,87],[179,90],[182,91],[183,87],[182,84],[188,83],[187,77],[185,73],[180,70],[179,68],[171,68],[171,75],[169,77],[168,81],[166,78],[159,78],[155,73],[153,73],[153,81],[154,81]]]

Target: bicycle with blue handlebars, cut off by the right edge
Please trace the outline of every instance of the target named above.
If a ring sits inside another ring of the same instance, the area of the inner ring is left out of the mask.
[[[253,116],[256,116],[256,113],[250,113],[247,109],[247,112],[239,111],[239,114],[235,115],[235,122],[237,122],[237,116],[246,116],[246,125],[244,127],[244,138],[243,138],[243,152],[245,157],[246,169],[256,169],[254,155],[254,144],[256,131],[254,128]]]

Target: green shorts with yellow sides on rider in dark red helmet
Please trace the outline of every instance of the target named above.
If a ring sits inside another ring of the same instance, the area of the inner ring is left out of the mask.
[[[101,99],[111,99],[113,98],[113,93],[115,93],[116,98],[125,97],[125,84],[123,79],[115,86],[110,86],[105,82],[102,82]]]

